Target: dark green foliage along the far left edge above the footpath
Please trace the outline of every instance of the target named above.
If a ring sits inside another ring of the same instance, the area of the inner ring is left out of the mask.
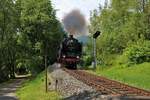
[[[16,9],[12,0],[0,2],[0,82],[14,78],[16,60]]]

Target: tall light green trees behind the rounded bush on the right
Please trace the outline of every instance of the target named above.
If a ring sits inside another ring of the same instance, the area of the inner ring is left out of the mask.
[[[122,55],[129,44],[149,40],[149,7],[149,0],[111,0],[109,8],[93,11],[90,33],[102,32],[97,42],[99,60],[109,63],[111,55]]]

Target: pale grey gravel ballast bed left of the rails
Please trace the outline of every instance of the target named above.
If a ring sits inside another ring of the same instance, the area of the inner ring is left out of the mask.
[[[78,81],[73,76],[60,68],[59,64],[53,64],[48,68],[49,90],[57,90],[68,100],[91,100],[99,95],[92,87]]]

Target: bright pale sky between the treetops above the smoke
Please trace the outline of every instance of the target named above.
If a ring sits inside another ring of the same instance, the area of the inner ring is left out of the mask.
[[[60,21],[70,11],[78,9],[89,22],[90,11],[98,9],[99,4],[104,5],[104,2],[105,0],[52,0],[53,7],[57,10],[56,16]]]

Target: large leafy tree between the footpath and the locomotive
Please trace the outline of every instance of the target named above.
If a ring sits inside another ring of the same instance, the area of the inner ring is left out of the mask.
[[[22,14],[18,45],[22,52],[18,54],[18,63],[21,61],[32,74],[36,74],[44,69],[45,57],[47,64],[55,61],[64,32],[51,1],[24,0],[20,5]]]

